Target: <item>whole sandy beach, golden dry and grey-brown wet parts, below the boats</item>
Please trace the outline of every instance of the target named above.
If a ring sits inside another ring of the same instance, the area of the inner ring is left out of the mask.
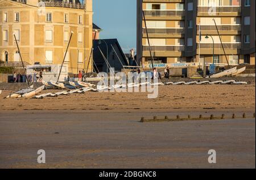
[[[255,168],[255,85],[198,87],[159,86],[156,99],[0,98],[0,168]],[[248,118],[239,119],[243,112]],[[142,116],[233,113],[238,119],[139,123]],[[46,164],[37,163],[39,149]],[[208,163],[209,149],[217,164]]]

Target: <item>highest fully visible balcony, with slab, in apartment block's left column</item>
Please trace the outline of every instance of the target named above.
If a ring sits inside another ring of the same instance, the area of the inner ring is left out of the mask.
[[[144,10],[148,19],[184,19],[185,11],[183,10]]]

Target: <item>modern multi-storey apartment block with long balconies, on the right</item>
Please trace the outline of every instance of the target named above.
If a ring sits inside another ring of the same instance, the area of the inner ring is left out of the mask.
[[[255,1],[138,0],[137,6],[137,60],[145,67],[151,57],[142,11],[155,64],[255,64]]]

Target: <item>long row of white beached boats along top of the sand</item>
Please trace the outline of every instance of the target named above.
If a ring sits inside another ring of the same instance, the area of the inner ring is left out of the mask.
[[[121,88],[133,88],[133,87],[140,87],[140,86],[163,86],[163,85],[247,85],[250,84],[250,82],[241,82],[241,81],[234,81],[234,80],[228,80],[228,81],[179,81],[179,82],[157,82],[157,83],[150,83],[150,82],[143,82],[143,83],[130,83],[128,85],[113,85],[110,86],[104,86],[104,85],[94,85],[92,83],[86,83],[82,81],[77,82],[44,82],[43,86],[40,86],[38,88],[34,88],[33,86],[28,87],[27,89],[22,89],[19,91],[16,91],[14,93],[10,93],[6,98],[30,98],[34,97],[37,99],[43,99],[44,97],[58,97],[59,95],[71,95],[73,93],[79,93],[79,94],[85,94],[88,91],[103,91],[103,90],[112,90],[112,89],[121,89]],[[61,89],[62,91],[55,92],[55,93],[44,93],[40,94],[44,89],[49,89],[51,87],[57,87]]]

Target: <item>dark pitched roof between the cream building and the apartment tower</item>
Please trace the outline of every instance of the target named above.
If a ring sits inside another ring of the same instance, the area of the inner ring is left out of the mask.
[[[124,65],[128,65],[125,53],[123,53],[123,50],[122,50],[120,44],[118,43],[117,39],[102,39],[101,40],[101,44],[99,44],[100,40],[101,39],[94,40],[94,43],[93,43],[93,59],[94,60],[101,60],[101,59],[103,60],[103,57],[102,57],[101,52],[100,52],[100,49],[101,49],[102,53],[104,53],[104,55],[106,56],[106,51],[107,51],[106,44],[108,45],[108,53],[109,53],[109,55],[110,55],[111,51],[113,50],[111,45],[113,45],[113,47],[114,47],[114,44],[116,44],[118,49],[119,49],[119,51],[121,52],[121,55],[122,55],[122,57],[119,57],[119,58],[123,58],[123,60],[126,63]],[[106,42],[106,44],[105,44],[105,42],[103,40]],[[100,49],[98,47],[100,47]],[[117,51],[117,49],[115,49],[115,51]]]

